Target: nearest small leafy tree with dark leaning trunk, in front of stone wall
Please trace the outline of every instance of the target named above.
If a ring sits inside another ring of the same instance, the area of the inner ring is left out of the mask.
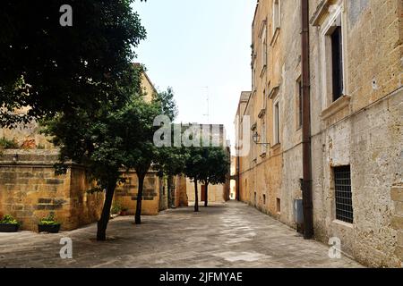
[[[65,172],[65,162],[72,160],[83,164],[90,178],[97,182],[91,191],[105,191],[105,202],[98,222],[97,239],[106,240],[107,223],[116,184],[122,180],[120,169],[124,166],[124,138],[116,134],[120,128],[115,115],[108,110],[88,114],[76,110],[76,114],[60,114],[47,122],[46,132],[54,137],[60,147],[58,173]]]

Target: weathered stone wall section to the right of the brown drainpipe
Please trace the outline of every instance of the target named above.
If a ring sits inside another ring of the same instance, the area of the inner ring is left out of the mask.
[[[390,223],[395,209],[390,190],[402,181],[402,2],[313,2],[315,237],[325,243],[338,237],[342,250],[364,265],[400,266],[399,230]],[[337,11],[341,11],[345,86],[344,97],[332,102],[324,43],[327,22]],[[354,223],[336,219],[333,168],[341,165],[351,167]]]

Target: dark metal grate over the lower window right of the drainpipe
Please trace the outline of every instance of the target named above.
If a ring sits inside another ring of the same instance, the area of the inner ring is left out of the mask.
[[[334,168],[334,181],[336,192],[336,218],[346,223],[353,223],[350,166]]]

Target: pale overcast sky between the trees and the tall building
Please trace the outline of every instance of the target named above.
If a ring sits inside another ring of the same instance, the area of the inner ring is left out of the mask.
[[[225,124],[231,145],[240,93],[251,89],[255,4],[256,0],[148,0],[133,4],[147,29],[147,39],[136,49],[137,62],[146,65],[156,88],[174,88],[177,122]]]

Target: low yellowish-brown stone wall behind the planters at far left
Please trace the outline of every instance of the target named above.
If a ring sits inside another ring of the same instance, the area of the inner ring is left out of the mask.
[[[88,194],[85,170],[70,165],[56,175],[57,150],[4,150],[0,156],[0,214],[12,214],[22,230],[37,231],[54,212],[63,231],[99,220],[103,193]]]

